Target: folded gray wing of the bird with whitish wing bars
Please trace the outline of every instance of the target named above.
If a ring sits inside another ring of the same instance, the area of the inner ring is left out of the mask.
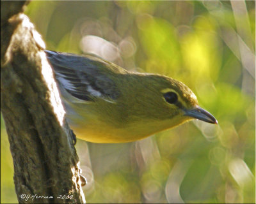
[[[99,69],[99,66],[106,66],[108,62],[93,56],[89,59],[49,50],[45,50],[45,53],[54,69],[56,80],[75,98],[83,101],[93,101],[95,98],[113,100],[118,98],[115,82]]]

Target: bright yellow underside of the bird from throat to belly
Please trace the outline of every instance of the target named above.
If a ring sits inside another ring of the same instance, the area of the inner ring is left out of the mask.
[[[174,128],[187,120],[189,120],[187,117],[176,117],[175,120],[168,119],[158,122],[148,120],[133,122],[120,128],[97,120],[78,122],[74,126],[70,124],[70,128],[81,140],[95,143],[120,143],[141,140],[164,129]]]

